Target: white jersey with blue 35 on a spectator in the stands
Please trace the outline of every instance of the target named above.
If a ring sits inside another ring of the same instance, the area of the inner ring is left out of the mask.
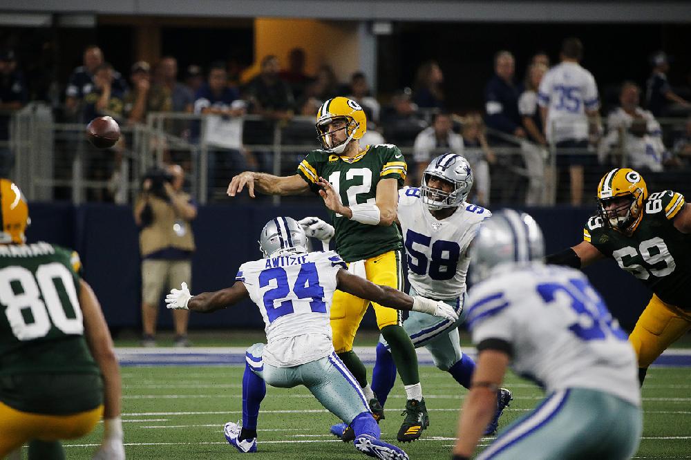
[[[595,78],[574,62],[562,62],[542,77],[538,104],[547,107],[547,140],[587,140],[586,110],[600,107]]]

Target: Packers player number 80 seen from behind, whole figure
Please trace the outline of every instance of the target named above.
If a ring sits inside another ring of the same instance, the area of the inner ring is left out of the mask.
[[[104,419],[94,459],[124,459],[120,368],[75,251],[27,245],[28,205],[0,179],[0,458],[64,459],[61,439]]]

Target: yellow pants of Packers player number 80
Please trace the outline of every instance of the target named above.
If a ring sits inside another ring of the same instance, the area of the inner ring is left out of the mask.
[[[58,441],[84,436],[103,416],[103,405],[68,415],[21,412],[0,402],[0,459],[24,443],[39,439]]]

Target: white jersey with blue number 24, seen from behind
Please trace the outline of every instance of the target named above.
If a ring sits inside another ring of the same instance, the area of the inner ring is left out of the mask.
[[[330,325],[336,274],[346,268],[334,251],[295,253],[240,266],[259,307],[267,337],[263,359],[276,367],[309,363],[334,352]]]

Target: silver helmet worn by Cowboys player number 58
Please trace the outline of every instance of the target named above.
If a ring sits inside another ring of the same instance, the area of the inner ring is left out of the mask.
[[[428,186],[433,177],[453,184],[453,191],[446,193]],[[468,198],[472,186],[473,170],[468,160],[455,153],[444,153],[432,160],[422,174],[420,198],[430,211],[457,207]]]

